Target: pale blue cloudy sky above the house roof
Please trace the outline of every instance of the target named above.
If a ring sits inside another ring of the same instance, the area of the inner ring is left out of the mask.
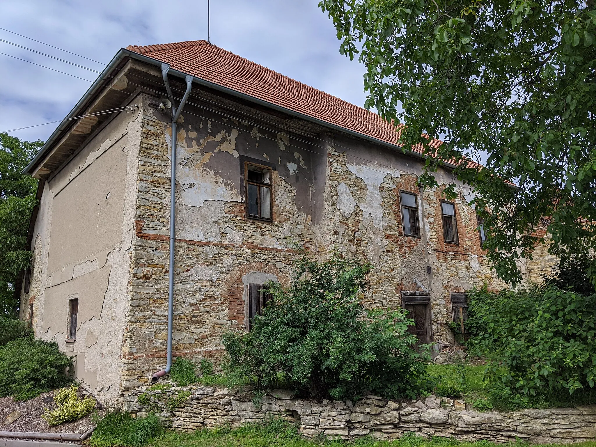
[[[339,54],[318,0],[211,0],[211,42],[362,107],[364,67]],[[0,39],[101,71],[128,45],[207,39],[207,0],[0,0]],[[0,41],[0,52],[88,80],[97,73]],[[0,54],[0,131],[60,120],[91,85]],[[45,140],[58,124],[11,135]]]

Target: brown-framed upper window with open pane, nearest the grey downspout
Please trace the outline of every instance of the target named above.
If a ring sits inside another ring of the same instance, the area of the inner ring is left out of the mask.
[[[271,194],[271,168],[246,162],[246,215],[253,219],[271,221],[273,216]]]

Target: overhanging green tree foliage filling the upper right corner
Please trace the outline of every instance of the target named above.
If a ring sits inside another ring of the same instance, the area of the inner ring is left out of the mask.
[[[519,258],[596,247],[594,0],[322,0],[340,52],[367,67],[367,107],[421,144],[426,187],[460,163],[485,213],[488,256],[502,279]],[[439,147],[432,138],[443,139]],[[517,187],[512,187],[511,183]],[[453,197],[455,184],[444,194]],[[592,263],[589,275],[596,280]]]

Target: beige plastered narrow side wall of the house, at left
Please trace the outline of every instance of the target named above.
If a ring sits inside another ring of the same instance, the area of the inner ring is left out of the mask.
[[[120,392],[141,136],[120,113],[44,185],[33,233],[29,294],[35,334],[75,358],[75,377],[104,402]],[[79,299],[76,342],[66,343],[69,299]],[[23,306],[21,318],[29,318]]]

